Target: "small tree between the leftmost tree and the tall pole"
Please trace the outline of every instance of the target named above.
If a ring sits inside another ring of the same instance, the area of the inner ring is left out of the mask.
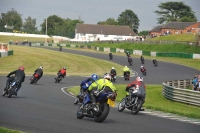
[[[28,16],[28,18],[25,19],[25,22],[23,24],[23,31],[27,33],[36,33],[36,19],[32,19],[30,16]]]

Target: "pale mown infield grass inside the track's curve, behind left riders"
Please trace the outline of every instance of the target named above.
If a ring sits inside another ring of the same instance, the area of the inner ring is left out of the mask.
[[[123,66],[88,56],[69,54],[60,51],[36,47],[10,46],[14,55],[0,58],[0,74],[5,75],[23,65],[26,74],[33,74],[39,66],[44,67],[45,75],[56,75],[62,67],[67,68],[67,75],[103,75],[110,72],[111,67],[122,71]]]

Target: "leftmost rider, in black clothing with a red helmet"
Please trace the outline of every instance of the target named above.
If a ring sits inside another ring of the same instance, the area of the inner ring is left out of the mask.
[[[15,92],[14,95],[17,96],[17,92],[19,91],[19,89],[21,88],[21,85],[22,85],[22,82],[24,82],[25,80],[25,73],[24,73],[24,67],[23,66],[20,66],[18,70],[15,70],[13,72],[10,72],[8,75],[7,75],[7,82],[6,82],[6,87],[4,88],[4,90],[6,89],[9,89],[9,83],[12,82],[13,80],[19,80],[20,83],[19,83],[19,86]],[[13,77],[10,77],[11,75],[15,74],[15,76]]]

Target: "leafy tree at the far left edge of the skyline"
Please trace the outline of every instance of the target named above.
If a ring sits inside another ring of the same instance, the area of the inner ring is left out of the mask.
[[[6,29],[3,28],[6,24],[8,26],[14,26],[13,29],[15,29],[15,30],[21,30],[21,27],[22,27],[21,14],[19,14],[13,8],[6,13],[2,13],[1,19],[0,19],[0,27],[1,27],[0,30],[1,31],[6,31]]]

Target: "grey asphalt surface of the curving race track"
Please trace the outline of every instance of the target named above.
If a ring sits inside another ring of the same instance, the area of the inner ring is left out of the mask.
[[[62,52],[108,60],[107,54],[69,49],[63,49]],[[114,56],[112,61],[127,65],[125,56]],[[189,79],[198,72],[177,64],[158,63],[158,67],[155,67],[151,60],[145,60],[144,66],[147,68],[147,76],[144,77],[145,83],[161,84],[166,80]],[[133,59],[131,69],[138,72],[139,75],[140,65],[139,59]],[[74,98],[64,93],[62,88],[77,86],[85,77],[67,76],[58,84],[54,83],[54,77],[44,76],[37,85],[30,85],[30,76],[27,76],[17,97],[0,96],[0,127],[28,133],[200,133],[200,126],[197,124],[155,117],[142,112],[132,115],[127,110],[118,112],[116,108],[111,108],[103,123],[96,123],[91,118],[77,119],[76,111],[79,105],[74,105]],[[134,77],[131,80],[134,80]],[[1,76],[1,90],[3,90],[5,82],[6,77]],[[116,83],[129,82],[118,77]]]

